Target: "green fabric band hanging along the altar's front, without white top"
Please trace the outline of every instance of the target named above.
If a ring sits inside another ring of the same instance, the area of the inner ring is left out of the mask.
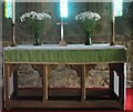
[[[125,49],[96,50],[4,50],[6,62],[57,62],[57,63],[88,63],[88,62],[126,62]]]

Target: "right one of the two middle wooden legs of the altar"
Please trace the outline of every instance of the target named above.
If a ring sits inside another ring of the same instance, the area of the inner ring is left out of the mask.
[[[84,102],[85,100],[85,75],[86,75],[86,65],[83,64],[82,67],[83,69],[83,73],[82,73],[82,78],[81,78],[81,101]]]

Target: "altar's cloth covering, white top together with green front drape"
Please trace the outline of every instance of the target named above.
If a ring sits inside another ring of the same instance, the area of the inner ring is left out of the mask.
[[[58,45],[18,45],[4,49],[6,63],[98,63],[125,62],[126,49],[122,45],[83,44]]]

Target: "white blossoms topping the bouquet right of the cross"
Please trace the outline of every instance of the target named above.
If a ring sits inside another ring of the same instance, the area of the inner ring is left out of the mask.
[[[98,21],[98,20],[101,19],[101,17],[100,17],[100,14],[91,12],[91,11],[85,11],[85,12],[82,12],[82,13],[75,16],[75,20],[82,20],[83,21],[85,19],[89,19],[89,20],[94,19],[95,21]]]

